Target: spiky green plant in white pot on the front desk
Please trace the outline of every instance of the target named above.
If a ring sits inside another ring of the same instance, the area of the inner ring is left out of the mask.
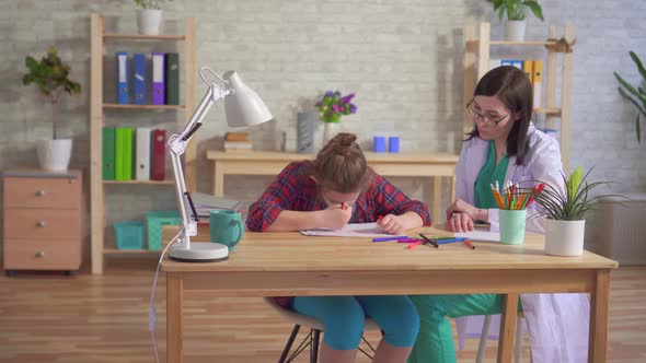
[[[605,182],[590,183],[582,168],[577,167],[569,178],[563,176],[565,191],[546,184],[538,195],[533,195],[541,206],[540,213],[545,218],[545,253],[554,256],[580,256],[584,253],[586,216],[595,210],[600,198],[591,197],[590,191]]]

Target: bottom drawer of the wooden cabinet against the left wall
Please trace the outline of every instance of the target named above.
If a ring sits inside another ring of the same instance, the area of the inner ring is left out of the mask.
[[[4,239],[5,270],[78,270],[81,241]]]

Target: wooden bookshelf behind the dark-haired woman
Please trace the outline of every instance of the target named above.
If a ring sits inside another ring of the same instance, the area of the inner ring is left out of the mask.
[[[554,129],[555,121],[561,118],[560,139],[561,139],[561,159],[563,169],[567,173],[569,169],[569,139],[572,124],[572,72],[574,67],[574,26],[565,25],[564,33],[555,25],[549,27],[547,39],[550,40],[526,40],[526,42],[507,42],[491,39],[491,24],[480,23],[478,25],[469,25],[464,28],[464,104],[473,97],[473,90],[477,81],[489,70],[489,54],[492,47],[542,47],[546,50],[545,63],[543,71],[543,90],[545,98],[543,105],[534,105],[534,113],[545,115],[546,128]],[[563,39],[569,44],[567,47],[558,47]],[[557,82],[558,55],[562,55],[561,61],[561,82]],[[560,86],[561,99],[557,99]],[[537,107],[539,106],[539,107]],[[473,128],[472,118],[464,110],[464,132]]]

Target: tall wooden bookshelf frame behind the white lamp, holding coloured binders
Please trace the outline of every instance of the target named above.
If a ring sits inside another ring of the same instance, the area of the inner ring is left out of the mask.
[[[195,19],[184,19],[184,34],[182,35],[139,35],[139,34],[116,34],[105,31],[105,17],[102,14],[93,13],[91,20],[91,74],[90,74],[90,212],[91,212],[91,262],[92,273],[101,274],[104,270],[104,258],[107,255],[132,255],[132,254],[158,254],[158,250],[116,249],[116,244],[107,242],[106,230],[106,207],[105,194],[108,185],[130,185],[138,188],[147,186],[174,186],[172,179],[166,180],[103,180],[103,137],[102,129],[105,125],[106,112],[122,109],[126,112],[163,110],[184,112],[184,122],[191,118],[187,110],[195,107]],[[103,67],[106,43],[122,44],[123,42],[183,42],[184,49],[182,62],[184,67],[184,94],[183,105],[122,105],[106,103],[104,101]],[[108,115],[109,116],[109,115]],[[191,142],[184,154],[184,173],[186,188],[191,191],[196,189],[196,156],[195,142]],[[116,191],[111,191],[116,192]],[[172,191],[171,191],[172,192]]]

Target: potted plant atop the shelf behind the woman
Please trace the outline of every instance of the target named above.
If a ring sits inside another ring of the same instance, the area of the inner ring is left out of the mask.
[[[498,12],[498,17],[503,21],[505,17],[505,39],[522,42],[524,39],[526,19],[531,12],[543,21],[543,9],[538,1],[533,0],[486,0],[494,4],[494,11]]]

